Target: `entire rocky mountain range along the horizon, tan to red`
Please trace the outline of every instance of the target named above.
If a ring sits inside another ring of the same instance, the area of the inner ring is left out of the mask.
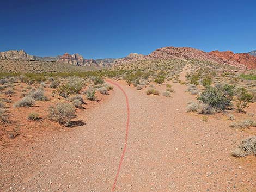
[[[56,57],[39,57],[29,55],[23,50],[11,50],[0,52],[0,59],[8,60],[35,60],[52,61],[57,63],[66,63],[76,66],[100,66],[111,67],[112,65],[121,65],[131,63],[137,60],[154,59],[196,59],[212,61],[220,64],[236,66],[241,69],[256,69],[256,51],[249,53],[233,53],[231,51],[211,51],[204,52],[191,47],[163,47],[156,49],[149,55],[130,53],[124,58],[106,58],[106,59],[85,59],[82,55],[75,53],[65,53]]]

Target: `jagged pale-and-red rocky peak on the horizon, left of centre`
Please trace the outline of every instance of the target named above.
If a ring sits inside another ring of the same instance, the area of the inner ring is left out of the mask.
[[[57,62],[68,63],[76,66],[99,66],[94,59],[84,59],[82,55],[65,53],[60,57]]]

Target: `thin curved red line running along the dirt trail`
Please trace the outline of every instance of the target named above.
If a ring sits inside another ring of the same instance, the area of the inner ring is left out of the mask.
[[[125,98],[126,98],[126,108],[127,108],[125,143],[124,143],[123,153],[122,153],[120,161],[119,161],[117,175],[115,175],[115,179],[114,179],[114,183],[113,183],[113,187],[112,187],[112,192],[113,192],[115,190],[115,185],[117,185],[117,179],[118,179],[118,176],[119,176],[119,172],[121,170],[121,165],[123,163],[124,155],[125,155],[125,151],[126,151],[126,146],[127,146],[127,141],[128,141],[128,132],[129,132],[130,107],[129,107],[128,96],[126,95],[126,93],[123,90],[123,88],[121,88],[121,86],[119,84],[117,84],[115,82],[112,82],[111,80],[107,80],[107,82],[114,84],[115,86],[117,86],[123,92],[123,94],[125,95]]]

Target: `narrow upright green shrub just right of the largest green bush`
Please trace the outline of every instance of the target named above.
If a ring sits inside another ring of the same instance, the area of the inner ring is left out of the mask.
[[[237,97],[237,112],[243,112],[248,106],[248,103],[253,102],[253,96],[249,94],[249,92],[245,88],[237,88],[236,89],[236,97]]]

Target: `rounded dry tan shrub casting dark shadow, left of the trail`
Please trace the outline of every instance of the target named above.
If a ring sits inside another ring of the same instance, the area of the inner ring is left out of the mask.
[[[76,117],[75,108],[70,103],[57,103],[55,107],[50,106],[48,112],[50,120],[65,126],[69,126],[71,119]]]

